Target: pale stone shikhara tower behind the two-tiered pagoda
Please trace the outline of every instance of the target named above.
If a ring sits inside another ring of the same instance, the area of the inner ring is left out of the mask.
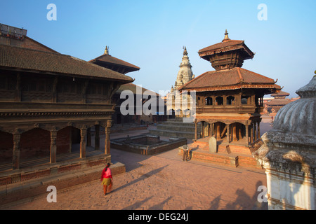
[[[183,47],[183,57],[179,67],[180,69],[178,71],[174,87],[171,86],[171,94],[168,95],[169,104],[167,103],[167,110],[169,111],[169,114],[172,113],[177,117],[183,117],[189,116],[190,96],[185,96],[185,102],[188,103],[187,106],[183,107],[183,97],[181,97],[180,92],[178,92],[178,88],[195,78],[195,75],[192,72],[192,65],[190,64],[189,57],[187,56],[186,47]]]

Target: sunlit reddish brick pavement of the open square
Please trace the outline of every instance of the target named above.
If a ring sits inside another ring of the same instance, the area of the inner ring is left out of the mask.
[[[178,149],[152,156],[115,149],[111,149],[111,154],[112,160],[126,165],[126,173],[114,176],[113,191],[105,197],[100,181],[92,181],[57,189],[56,203],[46,201],[47,193],[0,209],[268,209],[267,203],[257,201],[258,186],[266,186],[265,173],[261,170],[183,162]]]

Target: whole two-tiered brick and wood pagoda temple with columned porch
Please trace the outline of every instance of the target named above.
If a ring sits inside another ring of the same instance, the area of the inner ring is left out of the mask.
[[[179,88],[180,91],[196,91],[192,159],[199,157],[199,151],[207,151],[213,153],[207,155],[213,158],[220,153],[230,154],[228,164],[235,167],[242,165],[243,161],[250,161],[245,165],[253,162],[252,165],[256,166],[256,161],[251,160],[251,151],[260,143],[263,96],[279,92],[281,87],[272,78],[242,68],[244,60],[252,59],[254,52],[244,41],[231,40],[227,30],[223,41],[198,53],[211,62],[216,71],[202,73]],[[197,139],[198,123],[202,125],[201,139]],[[213,140],[216,142],[215,150],[209,144],[210,138],[216,139]]]

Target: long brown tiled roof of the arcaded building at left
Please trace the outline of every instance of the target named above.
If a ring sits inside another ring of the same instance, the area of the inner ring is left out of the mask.
[[[91,76],[131,83],[133,78],[96,64],[54,52],[0,45],[0,68],[21,69],[72,76]]]

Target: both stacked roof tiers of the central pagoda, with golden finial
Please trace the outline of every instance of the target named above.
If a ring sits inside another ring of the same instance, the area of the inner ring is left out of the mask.
[[[216,71],[207,71],[197,76],[180,87],[180,90],[205,92],[256,88],[261,89],[263,94],[281,90],[272,78],[241,68],[244,59],[253,58],[254,53],[244,41],[230,40],[227,30],[222,42],[199,50],[199,56],[211,62]]]

